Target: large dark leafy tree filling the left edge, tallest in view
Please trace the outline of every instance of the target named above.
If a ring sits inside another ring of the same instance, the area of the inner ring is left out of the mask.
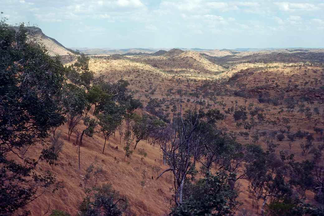
[[[44,139],[64,122],[58,103],[64,67],[27,33],[23,24],[15,29],[0,21],[0,215],[13,214],[55,185],[50,172],[34,171],[58,157]],[[38,144],[40,151],[30,157],[29,147]]]

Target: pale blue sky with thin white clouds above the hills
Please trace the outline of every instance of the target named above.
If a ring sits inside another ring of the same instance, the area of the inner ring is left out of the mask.
[[[324,1],[0,0],[66,47],[324,47]]]

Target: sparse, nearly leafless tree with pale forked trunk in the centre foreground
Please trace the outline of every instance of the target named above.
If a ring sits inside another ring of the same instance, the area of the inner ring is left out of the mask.
[[[182,113],[182,109],[174,113],[174,118],[168,126],[169,142],[161,146],[169,168],[164,170],[157,179],[165,172],[173,173],[174,201],[176,206],[182,204],[183,186],[187,175],[192,177],[196,174],[194,154],[199,144],[197,138],[201,131],[202,116],[195,109]]]

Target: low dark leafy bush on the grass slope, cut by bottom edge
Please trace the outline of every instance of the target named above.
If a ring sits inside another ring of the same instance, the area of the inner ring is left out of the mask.
[[[79,206],[79,216],[121,216],[128,210],[128,201],[111,185],[104,184],[88,190],[87,196]]]

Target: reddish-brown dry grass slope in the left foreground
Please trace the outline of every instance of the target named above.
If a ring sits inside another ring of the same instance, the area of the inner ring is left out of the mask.
[[[93,110],[90,111],[92,113]],[[90,117],[94,117],[90,114]],[[82,124],[82,123],[81,123]],[[82,125],[78,126],[81,130]],[[113,189],[118,190],[123,196],[127,196],[131,211],[128,215],[163,215],[168,212],[167,201],[171,198],[168,189],[172,186],[170,176],[164,176],[158,181],[152,180],[151,166],[162,165],[158,146],[151,146],[145,141],[139,143],[139,149],[145,149],[147,157],[140,168],[140,155],[135,150],[130,164],[124,162],[124,144],[117,131],[115,136],[109,139],[105,153],[102,154],[103,142],[101,134],[94,135],[93,138],[84,138],[84,146],[81,147],[81,170],[78,170],[78,153],[74,145],[75,137],[68,141],[67,126],[61,126],[57,129],[62,132],[64,140],[63,151],[59,155],[57,166],[43,164],[39,170],[50,170],[57,176],[58,181],[63,181],[64,188],[52,195],[50,191],[46,192],[40,199],[32,202],[27,209],[31,210],[31,215],[43,215],[47,209],[59,209],[75,215],[78,205],[85,196],[84,176],[86,169],[94,164],[95,167],[101,167],[104,173],[97,179],[97,185],[111,184]],[[123,128],[124,130],[124,128]],[[118,149],[116,149],[118,147]],[[146,172],[143,175],[143,172]],[[153,174],[156,178],[157,174]],[[145,180],[145,186],[142,189],[140,182]],[[95,177],[91,177],[87,187],[95,186]]]

